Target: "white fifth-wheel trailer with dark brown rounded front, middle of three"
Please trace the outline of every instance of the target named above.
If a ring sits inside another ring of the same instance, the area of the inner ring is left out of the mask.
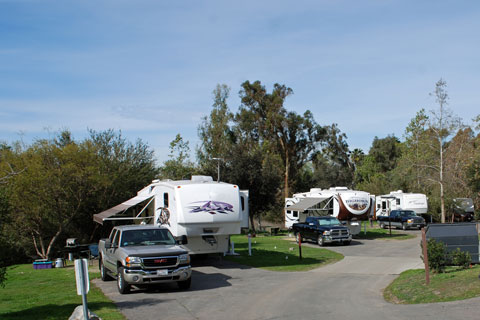
[[[352,234],[360,232],[359,221],[373,216],[375,197],[365,191],[350,190],[347,187],[330,189],[312,188],[285,199],[285,227],[304,222],[308,216],[331,215],[345,221]]]

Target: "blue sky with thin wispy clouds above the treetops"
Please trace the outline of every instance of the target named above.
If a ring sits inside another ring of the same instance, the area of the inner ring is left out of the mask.
[[[235,111],[260,80],[368,152],[435,108],[440,78],[456,115],[480,114],[479,33],[477,1],[0,0],[0,140],[113,128],[161,163],[177,133],[198,145],[217,84]]]

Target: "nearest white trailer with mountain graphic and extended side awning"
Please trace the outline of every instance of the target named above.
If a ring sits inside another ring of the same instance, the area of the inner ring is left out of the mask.
[[[191,254],[224,253],[230,235],[248,228],[248,191],[207,176],[154,180],[135,197],[95,214],[93,220],[163,226],[175,237],[186,235],[184,246]]]

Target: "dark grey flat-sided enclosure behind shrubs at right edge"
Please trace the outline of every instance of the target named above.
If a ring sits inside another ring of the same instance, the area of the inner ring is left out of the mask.
[[[447,251],[460,248],[472,257],[472,263],[479,263],[478,232],[476,223],[435,223],[427,225],[427,239],[445,244]]]

